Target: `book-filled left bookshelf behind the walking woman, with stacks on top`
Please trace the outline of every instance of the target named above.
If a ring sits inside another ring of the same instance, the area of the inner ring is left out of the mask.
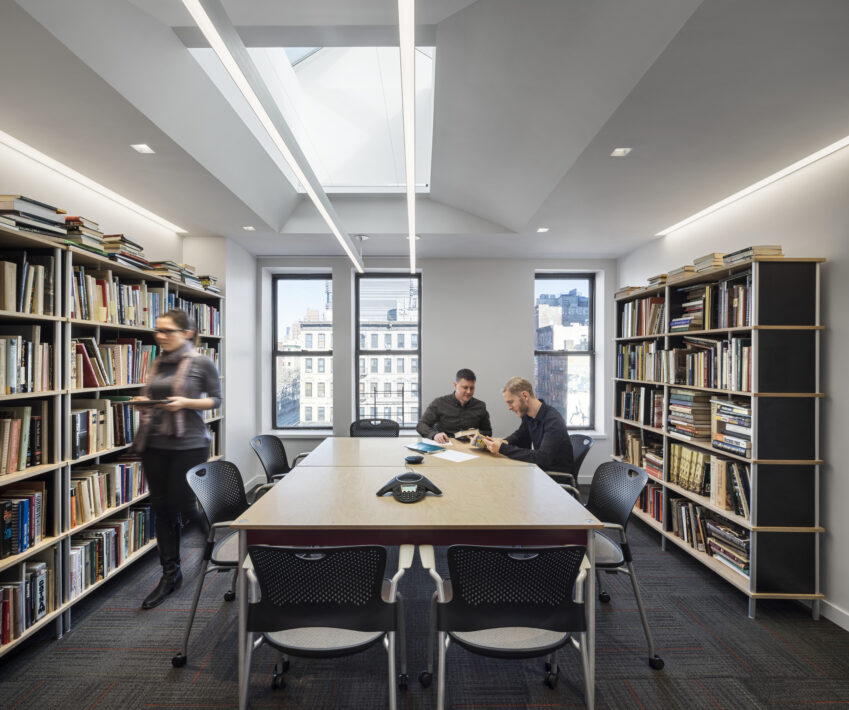
[[[73,222],[68,237],[91,237]],[[22,224],[0,223],[0,656],[45,624],[63,633],[79,599],[154,546],[142,465],[125,457],[156,318],[186,310],[219,367],[223,343],[214,277],[142,270],[123,235],[103,238],[108,254]],[[203,416],[220,456],[221,411]]]

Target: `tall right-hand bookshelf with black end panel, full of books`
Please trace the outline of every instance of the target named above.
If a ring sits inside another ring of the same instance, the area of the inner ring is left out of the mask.
[[[755,258],[615,301],[614,455],[649,473],[634,514],[746,594],[752,618],[758,599],[818,618],[823,598],[823,261]]]

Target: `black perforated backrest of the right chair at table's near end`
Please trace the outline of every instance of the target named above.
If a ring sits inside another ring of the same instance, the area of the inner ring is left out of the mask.
[[[584,631],[584,605],[572,598],[586,547],[448,548],[452,598],[437,605],[442,631],[531,626]]]

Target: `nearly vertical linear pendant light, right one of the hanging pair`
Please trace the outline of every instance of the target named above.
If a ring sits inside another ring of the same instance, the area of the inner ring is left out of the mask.
[[[398,0],[401,47],[401,113],[404,119],[404,166],[407,175],[407,241],[410,273],[416,273],[416,3]]]

